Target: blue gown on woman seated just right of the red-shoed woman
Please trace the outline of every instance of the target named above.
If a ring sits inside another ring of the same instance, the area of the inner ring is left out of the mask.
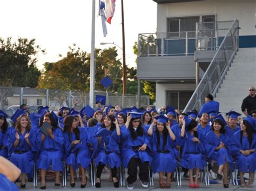
[[[219,146],[220,142],[223,142],[226,148],[221,148],[220,150],[215,151],[216,147]],[[218,138],[213,131],[210,131],[206,134],[204,143],[207,158],[210,158],[211,160],[217,160],[218,166],[225,164],[227,161],[230,164],[230,167],[232,167],[233,158],[231,157],[231,141],[226,133],[221,133],[220,137]]]

